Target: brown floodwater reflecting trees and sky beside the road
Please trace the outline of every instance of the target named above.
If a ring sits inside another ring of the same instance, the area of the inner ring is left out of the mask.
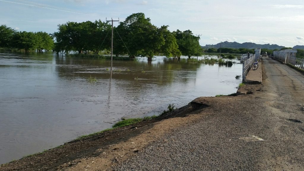
[[[112,75],[110,66],[53,53],[0,54],[0,164],[110,128],[122,117],[235,93],[242,73],[241,64],[202,65],[186,57],[113,61]]]

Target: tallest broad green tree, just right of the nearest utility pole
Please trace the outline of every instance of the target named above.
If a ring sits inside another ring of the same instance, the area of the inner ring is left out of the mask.
[[[143,13],[128,16],[116,28],[120,37],[115,38],[114,53],[129,52],[130,58],[136,56],[147,57],[151,61],[155,54],[160,54],[161,47],[165,44],[163,33],[145,18]],[[129,50],[129,51],[128,51]]]

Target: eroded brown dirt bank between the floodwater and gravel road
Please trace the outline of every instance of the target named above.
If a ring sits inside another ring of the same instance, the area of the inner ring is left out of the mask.
[[[3,171],[110,169],[113,165],[136,155],[150,142],[156,141],[170,130],[191,124],[205,115],[216,113],[213,111],[202,114],[205,108],[210,106],[220,108],[226,105],[225,100],[233,100],[238,98],[238,95],[246,96],[243,94],[252,94],[256,90],[261,90],[260,84],[247,83],[237,90],[234,97],[199,97],[181,108],[158,117],[75,139],[56,148],[1,164],[0,169]]]

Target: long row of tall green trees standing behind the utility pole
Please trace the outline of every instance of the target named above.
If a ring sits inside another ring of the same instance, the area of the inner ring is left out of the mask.
[[[109,22],[96,20],[82,23],[67,22],[58,25],[58,32],[52,34],[56,40],[55,51],[67,52],[99,51],[111,48],[111,25]],[[128,54],[130,58],[137,56],[152,60],[154,55],[180,57],[201,54],[199,37],[192,31],[168,30],[168,26],[157,27],[143,13],[128,16],[113,31],[113,54]]]

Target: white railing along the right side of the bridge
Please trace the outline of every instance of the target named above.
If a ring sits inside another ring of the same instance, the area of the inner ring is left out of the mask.
[[[303,68],[304,59],[296,58],[297,50],[294,49],[285,49],[281,51],[274,51],[274,58],[278,61],[282,61],[285,64],[291,64],[300,69]]]

